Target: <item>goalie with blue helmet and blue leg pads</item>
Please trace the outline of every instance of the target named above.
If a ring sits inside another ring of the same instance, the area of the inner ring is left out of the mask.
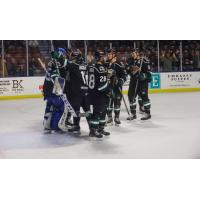
[[[51,53],[51,60],[48,63],[47,74],[44,81],[43,95],[47,101],[44,115],[45,130],[60,130],[59,120],[64,113],[64,102],[60,98],[63,94],[65,84],[65,50],[58,48]]]

